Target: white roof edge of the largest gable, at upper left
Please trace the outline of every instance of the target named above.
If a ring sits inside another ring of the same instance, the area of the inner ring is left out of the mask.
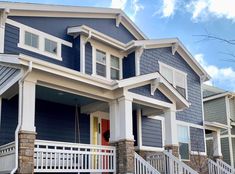
[[[0,10],[9,11],[9,16],[116,19],[116,25],[119,26],[122,23],[136,39],[147,39],[144,33],[121,9],[0,1]]]

